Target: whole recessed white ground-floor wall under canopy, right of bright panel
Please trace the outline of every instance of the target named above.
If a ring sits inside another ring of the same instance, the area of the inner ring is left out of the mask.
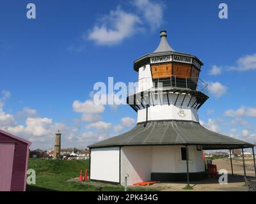
[[[150,180],[151,173],[186,173],[186,161],[181,159],[182,146],[136,146],[121,149],[121,184]],[[203,152],[189,146],[189,172],[204,171]]]

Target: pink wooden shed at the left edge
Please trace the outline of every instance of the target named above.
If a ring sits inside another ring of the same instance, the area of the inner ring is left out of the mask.
[[[29,145],[0,129],[0,191],[26,191]]]

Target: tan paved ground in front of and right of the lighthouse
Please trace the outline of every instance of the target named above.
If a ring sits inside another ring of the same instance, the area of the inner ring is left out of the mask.
[[[246,191],[244,186],[243,168],[241,166],[233,166],[234,177],[231,175],[231,165],[228,161],[223,159],[216,159],[213,161],[217,165],[218,171],[225,169],[228,171],[228,184],[219,184],[218,179],[209,178],[200,182],[191,182],[193,190],[189,191]],[[255,176],[254,171],[246,170],[246,175]],[[173,183],[159,183],[150,186],[151,189],[160,191],[188,191],[182,189],[186,186],[186,182],[173,182]],[[146,187],[147,188],[147,187]]]

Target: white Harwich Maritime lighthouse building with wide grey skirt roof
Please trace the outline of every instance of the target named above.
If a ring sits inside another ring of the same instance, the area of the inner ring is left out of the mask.
[[[124,185],[148,180],[202,180],[203,150],[239,149],[253,144],[220,135],[199,124],[198,109],[209,98],[196,56],[175,52],[160,33],[157,49],[134,61],[138,83],[128,85],[127,103],[136,126],[89,145],[90,179]]]

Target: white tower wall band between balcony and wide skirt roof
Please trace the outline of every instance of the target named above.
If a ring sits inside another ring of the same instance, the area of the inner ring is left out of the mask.
[[[161,99],[154,100],[154,105],[148,107],[148,120],[192,120],[199,122],[198,111],[190,106],[195,103],[195,98],[191,99],[191,105],[188,107],[189,96],[186,96],[182,106],[182,100],[184,98],[183,94],[180,94],[176,105],[175,100],[177,94],[168,94],[169,103],[167,102],[167,95],[163,94]],[[152,100],[152,98],[151,98]],[[158,104],[158,105],[157,105]],[[184,115],[180,115],[180,109],[184,110]],[[146,120],[146,108],[138,110],[137,122],[144,122]]]

